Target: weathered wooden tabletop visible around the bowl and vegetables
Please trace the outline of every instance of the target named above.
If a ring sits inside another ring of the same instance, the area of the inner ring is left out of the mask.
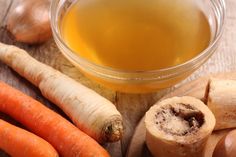
[[[12,39],[10,34],[5,29],[5,16],[14,9],[18,0],[12,0],[13,5],[8,10],[8,6],[11,0],[0,0],[0,42],[14,44],[25,50],[27,50],[30,55],[35,57],[41,62],[44,62],[52,67],[60,70],[61,72],[67,74],[68,76],[74,78],[75,80],[85,84],[89,88],[94,89],[104,97],[111,100],[118,108],[118,110],[123,115],[125,133],[124,137],[120,142],[105,144],[104,147],[110,152],[113,157],[125,156],[128,144],[134,132],[135,126],[139,120],[144,115],[145,111],[154,104],[160,97],[162,97],[167,92],[174,90],[181,86],[181,84],[194,80],[200,76],[204,76],[209,73],[218,72],[230,72],[236,71],[236,1],[227,1],[227,16],[224,34],[221,40],[221,44],[216,51],[216,53],[210,58],[210,60],[205,63],[200,69],[198,69],[194,74],[188,77],[183,82],[178,85],[159,91],[157,93],[150,94],[124,94],[115,91],[110,91],[90,80],[85,78],[73,65],[71,65],[60,53],[57,46],[55,45],[53,39],[49,40],[40,46],[28,46],[25,44],[17,43]],[[20,77],[6,65],[0,62],[0,80],[20,89],[22,92],[32,96],[33,98],[41,101],[53,110],[63,114],[55,105],[47,101],[42,97],[39,90],[31,85],[28,81]],[[0,113],[0,118],[10,119],[6,115]],[[15,123],[17,124],[17,123]],[[20,124],[17,124],[20,125]],[[0,151],[0,156],[6,156]]]

